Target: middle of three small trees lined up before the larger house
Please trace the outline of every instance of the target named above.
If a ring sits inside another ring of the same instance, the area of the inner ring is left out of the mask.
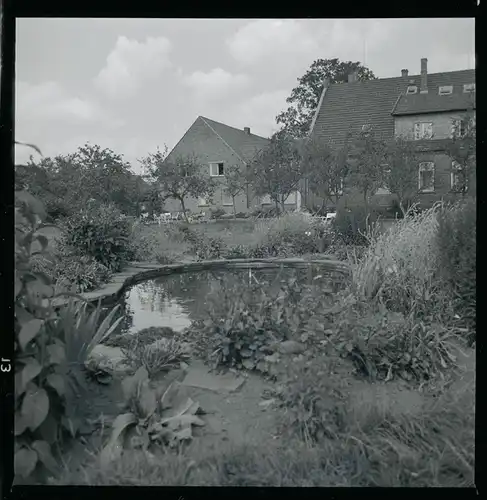
[[[358,189],[369,213],[369,197],[384,183],[386,145],[376,138],[373,129],[362,131],[352,142],[349,154],[349,181]]]

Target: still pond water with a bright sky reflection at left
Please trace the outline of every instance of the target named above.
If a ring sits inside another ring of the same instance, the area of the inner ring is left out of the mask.
[[[324,274],[319,268],[267,268],[200,271],[147,280],[131,287],[121,301],[124,320],[117,333],[135,333],[154,326],[181,331],[192,320],[202,319],[208,298],[215,287],[259,285],[277,291],[290,279],[335,293],[343,287],[343,277]]]

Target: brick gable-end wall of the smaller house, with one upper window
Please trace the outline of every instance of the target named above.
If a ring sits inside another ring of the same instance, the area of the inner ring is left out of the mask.
[[[198,160],[205,165],[206,175],[210,175],[211,162],[223,162],[224,168],[230,165],[240,165],[245,168],[243,162],[232,150],[226,146],[201,120],[197,120],[191,128],[186,132],[181,141],[168,155],[168,160],[175,160],[178,157],[195,155]],[[233,212],[233,204],[223,204],[224,187],[223,178],[213,178],[219,187],[213,194],[212,204],[201,204],[200,200],[195,198],[187,198],[185,200],[186,208],[193,213],[207,212],[210,208],[222,208],[228,213]],[[249,199],[244,192],[235,197],[235,206],[237,212],[247,212],[251,209],[253,202],[256,200]],[[178,212],[181,210],[181,203],[178,200],[168,199],[164,204],[164,209],[168,212]]]

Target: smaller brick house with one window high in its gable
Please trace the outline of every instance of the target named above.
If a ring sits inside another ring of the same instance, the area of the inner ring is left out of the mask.
[[[198,116],[181,140],[168,154],[168,161],[178,157],[192,156],[204,165],[205,173],[214,178],[217,188],[211,199],[191,199],[185,201],[191,212],[205,212],[217,207],[228,213],[233,212],[232,198],[225,194],[225,168],[238,165],[247,168],[257,151],[269,144],[269,139],[250,132],[249,127],[243,130],[223,123]],[[288,208],[295,208],[296,198],[289,200]],[[268,196],[257,197],[250,189],[235,197],[237,212],[250,212],[262,205],[270,205]],[[178,200],[167,199],[165,210],[177,212],[181,210]]]

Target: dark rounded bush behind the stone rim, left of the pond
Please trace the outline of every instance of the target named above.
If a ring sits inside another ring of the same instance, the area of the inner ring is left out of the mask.
[[[62,242],[73,253],[93,257],[111,271],[133,259],[130,222],[114,205],[89,205],[63,222]]]

